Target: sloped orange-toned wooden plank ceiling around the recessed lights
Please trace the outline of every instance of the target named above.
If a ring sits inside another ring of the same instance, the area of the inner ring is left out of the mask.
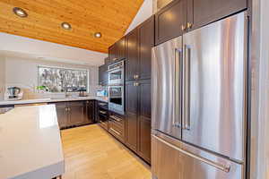
[[[133,21],[143,0],[0,0],[0,31],[108,53]],[[20,18],[13,7],[28,13]],[[72,30],[63,30],[62,22]],[[101,32],[101,38],[94,38]]]

